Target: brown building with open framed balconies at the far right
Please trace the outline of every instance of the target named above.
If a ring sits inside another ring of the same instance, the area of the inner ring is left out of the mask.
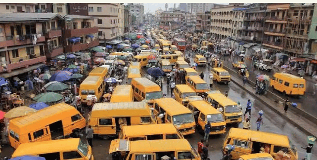
[[[284,52],[298,56],[308,52],[308,36],[314,14],[313,4],[291,3],[285,26]]]

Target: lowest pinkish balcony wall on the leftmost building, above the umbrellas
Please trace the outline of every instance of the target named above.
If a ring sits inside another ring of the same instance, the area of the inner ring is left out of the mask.
[[[42,63],[46,61],[46,56],[41,56],[40,54],[31,54],[25,57],[17,57],[11,59],[11,63],[6,65],[6,69],[4,70],[3,67],[0,67],[1,71],[8,71],[15,70],[18,68],[28,68],[31,65]]]

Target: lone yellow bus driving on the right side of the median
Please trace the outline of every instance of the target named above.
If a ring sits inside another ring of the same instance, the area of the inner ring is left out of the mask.
[[[306,80],[287,73],[275,73],[270,86],[287,95],[303,96],[306,92]]]

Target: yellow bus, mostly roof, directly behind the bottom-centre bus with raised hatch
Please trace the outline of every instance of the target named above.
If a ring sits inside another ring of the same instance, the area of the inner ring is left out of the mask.
[[[147,124],[123,126],[120,139],[129,141],[155,140],[155,139],[184,139],[181,132],[173,124]]]

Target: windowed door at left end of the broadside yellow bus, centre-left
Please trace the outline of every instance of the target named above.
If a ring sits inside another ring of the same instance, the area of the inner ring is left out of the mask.
[[[102,135],[116,134],[115,118],[98,118],[97,130],[94,132]]]

